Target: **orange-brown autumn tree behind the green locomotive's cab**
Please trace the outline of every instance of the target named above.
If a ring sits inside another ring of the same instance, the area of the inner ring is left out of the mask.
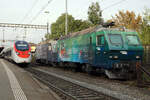
[[[142,24],[142,17],[140,15],[136,16],[133,11],[119,11],[115,17],[112,17],[111,21],[114,21],[117,27],[124,26],[127,29],[133,29],[139,32]]]

